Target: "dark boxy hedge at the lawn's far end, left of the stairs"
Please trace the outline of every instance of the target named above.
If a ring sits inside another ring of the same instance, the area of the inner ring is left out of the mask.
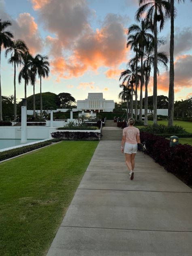
[[[99,132],[52,132],[51,136],[68,141],[100,141]]]

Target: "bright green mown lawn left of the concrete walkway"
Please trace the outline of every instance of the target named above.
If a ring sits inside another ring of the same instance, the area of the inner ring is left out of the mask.
[[[0,163],[0,255],[46,255],[97,145],[63,141]]]

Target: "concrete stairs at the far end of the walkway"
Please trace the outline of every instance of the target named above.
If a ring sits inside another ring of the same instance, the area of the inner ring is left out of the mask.
[[[121,141],[123,130],[113,120],[107,120],[102,128],[101,141]]]

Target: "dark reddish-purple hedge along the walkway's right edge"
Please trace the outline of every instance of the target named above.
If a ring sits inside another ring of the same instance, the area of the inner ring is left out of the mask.
[[[140,132],[140,138],[141,143],[146,143],[145,154],[186,184],[192,185],[192,146],[179,144],[170,147],[167,139],[148,132]]]

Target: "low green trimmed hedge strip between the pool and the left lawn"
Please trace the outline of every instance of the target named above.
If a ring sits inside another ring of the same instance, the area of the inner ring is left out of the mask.
[[[34,149],[38,149],[41,147],[45,147],[47,145],[51,145],[52,142],[55,142],[55,141],[53,141],[53,140],[43,141],[43,142],[35,143],[33,145],[17,147],[15,149],[9,149],[6,151],[2,151],[2,152],[0,152],[0,161],[12,158],[14,156],[22,155],[22,154],[32,151]]]

